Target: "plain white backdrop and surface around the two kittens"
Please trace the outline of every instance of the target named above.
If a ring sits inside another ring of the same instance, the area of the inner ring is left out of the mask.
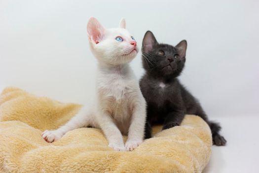
[[[161,43],[187,40],[180,79],[222,122],[228,140],[213,148],[207,172],[258,172],[258,0],[0,0],[0,90],[21,87],[87,104],[96,70],[86,33],[90,16],[108,28],[126,18],[139,46],[147,30]],[[131,64],[140,78],[141,53]]]

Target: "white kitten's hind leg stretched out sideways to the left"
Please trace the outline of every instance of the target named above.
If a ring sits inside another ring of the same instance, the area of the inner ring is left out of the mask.
[[[47,142],[54,142],[70,130],[87,126],[90,121],[89,119],[89,110],[87,110],[86,107],[82,107],[81,110],[67,124],[57,130],[45,130],[42,132],[41,136]]]

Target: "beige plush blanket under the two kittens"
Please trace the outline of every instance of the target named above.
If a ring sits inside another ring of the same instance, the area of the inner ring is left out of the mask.
[[[212,146],[211,131],[187,115],[179,127],[160,131],[132,152],[113,151],[99,129],[69,131],[47,143],[45,129],[65,124],[80,105],[7,87],[0,95],[0,173],[201,173]],[[125,137],[126,139],[126,137]]]

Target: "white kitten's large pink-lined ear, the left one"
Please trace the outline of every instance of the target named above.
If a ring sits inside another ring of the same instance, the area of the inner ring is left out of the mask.
[[[98,44],[104,37],[105,28],[96,18],[90,17],[87,23],[87,33],[89,40]]]

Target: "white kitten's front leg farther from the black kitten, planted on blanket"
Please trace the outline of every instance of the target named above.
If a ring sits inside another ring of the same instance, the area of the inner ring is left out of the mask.
[[[109,147],[113,148],[116,151],[126,151],[122,134],[120,130],[117,128],[117,126],[114,124],[109,113],[99,113],[98,124],[100,128],[103,130],[109,142]]]

